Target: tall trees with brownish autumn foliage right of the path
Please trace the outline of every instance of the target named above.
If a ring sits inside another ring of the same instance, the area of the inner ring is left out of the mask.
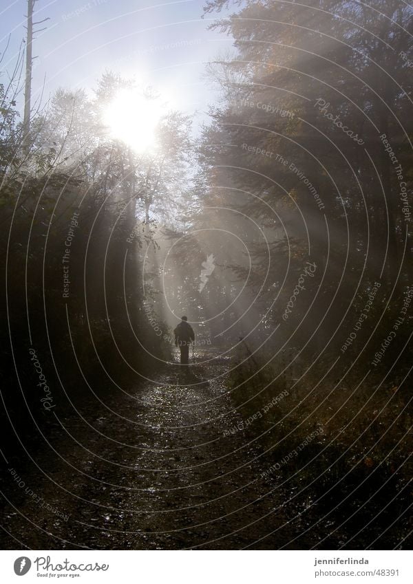
[[[239,210],[263,230],[257,237],[246,221],[227,223],[247,238],[249,283],[264,285],[261,314],[278,323],[305,261],[315,261],[306,292],[315,300],[299,337],[321,321],[311,345],[337,350],[374,281],[381,332],[412,283],[412,11],[399,1],[306,5],[247,1],[212,25],[235,50],[209,65],[222,103],[211,109],[201,162],[207,204]],[[209,2],[207,14],[224,6]],[[235,270],[246,278],[245,262]],[[298,304],[294,327],[308,309]],[[394,354],[407,336],[408,326]]]

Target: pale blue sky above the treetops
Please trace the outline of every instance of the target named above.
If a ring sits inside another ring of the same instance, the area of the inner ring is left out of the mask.
[[[50,17],[34,41],[33,91],[57,87],[87,90],[106,69],[152,85],[178,109],[207,110],[215,92],[202,78],[204,63],[231,47],[231,39],[207,30],[203,0],[38,0],[35,21]],[[11,42],[2,69],[11,68],[25,35],[26,0],[0,8],[0,50]]]

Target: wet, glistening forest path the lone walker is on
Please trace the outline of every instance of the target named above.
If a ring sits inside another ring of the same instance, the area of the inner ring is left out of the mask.
[[[59,455],[36,456],[43,472],[16,469],[50,507],[21,488],[6,529],[32,549],[277,549],[290,541],[286,526],[257,542],[286,521],[282,494],[264,496],[244,431],[226,435],[241,421],[226,387],[230,360],[206,357],[187,373],[166,365],[98,409],[94,400],[80,412],[85,421],[61,420],[66,429],[50,440]]]

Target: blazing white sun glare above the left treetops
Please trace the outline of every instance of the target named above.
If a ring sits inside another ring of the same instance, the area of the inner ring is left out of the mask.
[[[145,98],[134,89],[123,89],[106,107],[103,122],[113,138],[143,152],[153,146],[156,127],[165,113],[165,105],[159,99]]]

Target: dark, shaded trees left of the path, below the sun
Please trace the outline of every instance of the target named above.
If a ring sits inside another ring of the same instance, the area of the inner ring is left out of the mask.
[[[27,436],[53,425],[39,368],[54,407],[69,415],[73,400],[136,385],[167,356],[143,310],[143,257],[154,206],[168,213],[167,189],[182,181],[190,120],[168,113],[158,149],[134,153],[101,120],[130,85],[108,73],[94,98],[56,91],[32,111],[27,133],[18,85],[18,76],[0,84],[1,376],[3,430]]]

